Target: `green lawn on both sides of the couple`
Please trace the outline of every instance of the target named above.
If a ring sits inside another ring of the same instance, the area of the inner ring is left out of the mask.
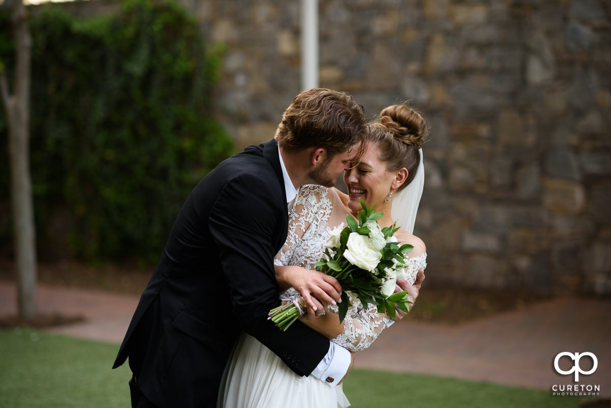
[[[111,370],[118,344],[0,331],[0,407],[129,407],[126,366]],[[354,370],[344,385],[354,408],[576,408],[579,398],[414,374]]]

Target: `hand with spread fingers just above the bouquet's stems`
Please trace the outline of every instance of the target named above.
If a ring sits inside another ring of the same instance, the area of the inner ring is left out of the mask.
[[[304,298],[309,318],[324,310],[323,303],[337,304],[340,301],[342,286],[337,279],[323,272],[310,271],[299,266],[275,266],[276,280],[280,288],[293,286]]]

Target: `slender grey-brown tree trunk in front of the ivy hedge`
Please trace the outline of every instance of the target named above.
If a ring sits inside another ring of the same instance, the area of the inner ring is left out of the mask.
[[[18,310],[23,318],[37,313],[36,239],[32,181],[29,166],[29,97],[32,39],[22,0],[13,0],[12,23],[15,38],[15,89],[10,95],[6,69],[1,69],[0,91],[9,125],[9,160],[15,230]]]

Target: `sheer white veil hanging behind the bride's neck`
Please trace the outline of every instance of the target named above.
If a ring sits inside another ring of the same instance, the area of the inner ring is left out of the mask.
[[[395,194],[392,199],[392,207],[390,208],[392,219],[403,230],[409,233],[414,232],[416,213],[418,212],[420,197],[422,197],[424,189],[424,158],[422,156],[422,148],[418,152],[420,153],[420,165],[416,170],[414,180],[406,188]]]

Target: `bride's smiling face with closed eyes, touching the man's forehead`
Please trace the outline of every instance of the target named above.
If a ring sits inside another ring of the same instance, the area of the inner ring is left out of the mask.
[[[376,212],[390,211],[390,203],[384,202],[384,199],[390,194],[397,172],[387,170],[386,164],[378,158],[378,153],[378,145],[368,145],[360,162],[344,172],[344,183],[349,195],[348,206],[353,213],[362,209],[361,199],[368,207],[375,205]]]

